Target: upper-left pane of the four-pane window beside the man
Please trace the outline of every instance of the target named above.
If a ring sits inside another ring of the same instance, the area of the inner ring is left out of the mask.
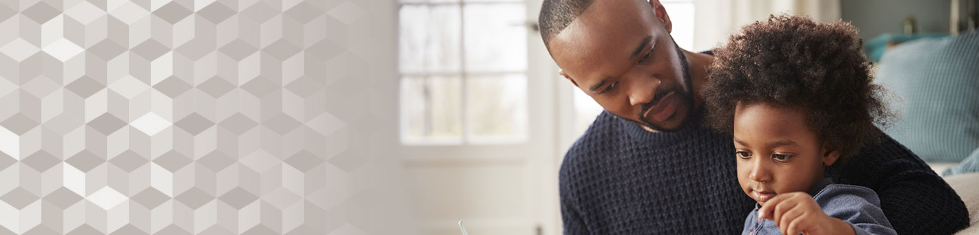
[[[459,20],[457,5],[401,6],[401,72],[458,72]]]

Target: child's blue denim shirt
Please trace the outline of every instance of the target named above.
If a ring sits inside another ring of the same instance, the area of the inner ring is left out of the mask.
[[[862,234],[898,234],[887,221],[884,211],[880,210],[880,199],[877,193],[869,188],[850,185],[833,184],[826,177],[816,183],[809,192],[826,215],[842,219],[853,226],[857,235]],[[778,226],[770,219],[759,220],[757,203],[755,210],[744,220],[744,230],[741,234],[781,234]]]

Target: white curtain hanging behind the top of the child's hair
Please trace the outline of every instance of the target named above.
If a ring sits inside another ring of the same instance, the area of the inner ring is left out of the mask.
[[[806,15],[814,20],[840,20],[840,0],[694,0],[693,51],[710,50],[741,26],[771,14]]]

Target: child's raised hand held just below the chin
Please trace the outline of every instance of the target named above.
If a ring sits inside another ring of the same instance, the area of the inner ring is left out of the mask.
[[[849,223],[823,213],[806,192],[775,195],[758,210],[758,215],[774,221],[782,234],[854,234]]]

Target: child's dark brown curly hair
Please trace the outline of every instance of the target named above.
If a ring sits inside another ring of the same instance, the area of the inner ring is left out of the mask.
[[[845,159],[880,139],[875,124],[892,122],[850,23],[781,15],[741,30],[708,68],[702,95],[710,127],[731,133],[738,103],[800,107],[809,129]]]

